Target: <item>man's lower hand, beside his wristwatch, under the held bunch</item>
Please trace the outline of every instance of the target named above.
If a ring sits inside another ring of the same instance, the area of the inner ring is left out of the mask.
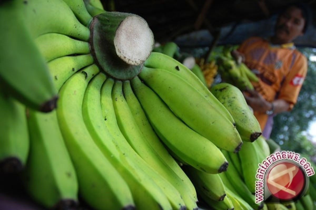
[[[247,94],[249,93],[249,94]],[[247,90],[243,92],[247,104],[253,109],[253,111],[258,111],[260,113],[266,113],[266,111],[271,110],[272,103],[265,100],[261,94],[255,90]]]

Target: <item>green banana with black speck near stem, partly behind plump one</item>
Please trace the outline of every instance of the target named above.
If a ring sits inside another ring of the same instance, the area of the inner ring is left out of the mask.
[[[213,94],[211,94],[210,90],[203,84],[203,82],[195,76],[195,74],[185,67],[182,63],[173,58],[162,54],[152,52],[148,59],[144,62],[144,66],[149,68],[157,68],[157,69],[165,69],[167,71],[173,72],[177,74],[179,77],[184,79],[186,82],[190,83],[194,88],[200,92],[204,98],[217,109],[222,115],[228,118],[230,122],[233,124],[234,119],[228,110],[219,102]]]

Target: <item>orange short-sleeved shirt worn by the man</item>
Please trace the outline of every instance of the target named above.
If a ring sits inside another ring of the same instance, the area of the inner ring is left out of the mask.
[[[238,51],[245,55],[246,65],[259,78],[259,82],[252,83],[255,90],[270,102],[284,99],[292,109],[307,73],[307,59],[293,43],[273,45],[266,39],[251,37]],[[259,112],[254,115],[264,129],[268,116]]]

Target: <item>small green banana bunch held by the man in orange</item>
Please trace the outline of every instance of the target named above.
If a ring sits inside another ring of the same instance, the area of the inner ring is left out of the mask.
[[[236,86],[241,91],[253,90],[252,82],[259,81],[258,77],[244,63],[237,63],[229,53],[218,56],[216,63],[222,80]]]

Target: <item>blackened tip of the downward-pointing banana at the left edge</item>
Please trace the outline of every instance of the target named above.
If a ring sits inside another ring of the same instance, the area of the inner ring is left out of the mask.
[[[21,172],[23,164],[17,157],[8,157],[0,161],[0,173],[14,174]]]

